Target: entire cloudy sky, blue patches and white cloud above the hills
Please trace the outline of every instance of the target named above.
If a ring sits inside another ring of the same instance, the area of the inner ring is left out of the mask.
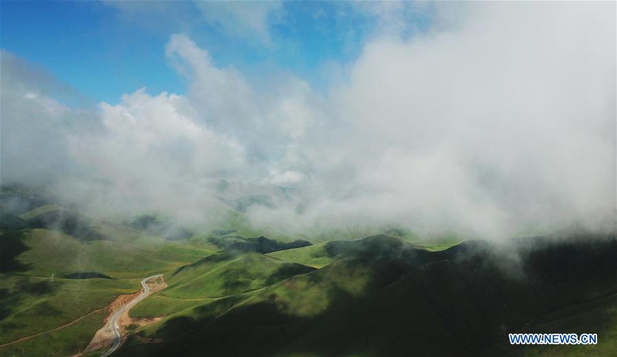
[[[193,223],[224,179],[290,232],[614,229],[615,10],[3,1],[0,178]]]

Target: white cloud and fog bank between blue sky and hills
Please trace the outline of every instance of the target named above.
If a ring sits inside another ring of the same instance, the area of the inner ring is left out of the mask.
[[[290,232],[614,230],[615,4],[435,6],[428,31],[384,27],[322,91],[255,83],[178,33],[160,51],[188,93],[90,106],[2,51],[1,182],[105,217],[233,209]]]

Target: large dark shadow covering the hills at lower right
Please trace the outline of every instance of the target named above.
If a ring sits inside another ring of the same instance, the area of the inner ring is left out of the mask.
[[[520,274],[501,265],[511,258],[479,242],[427,253],[428,262],[424,253],[416,262],[398,253],[344,260],[305,275],[328,301],[319,315],[291,312],[290,299],[306,291],[290,280],[276,288],[285,297],[273,289],[219,299],[194,317],[163,323],[156,334],[162,343],[132,338],[119,355],[490,356],[513,351],[508,333],[529,332],[553,312],[617,293],[614,237],[520,240],[509,249]],[[359,269],[370,272],[368,288],[352,295],[343,284]]]

